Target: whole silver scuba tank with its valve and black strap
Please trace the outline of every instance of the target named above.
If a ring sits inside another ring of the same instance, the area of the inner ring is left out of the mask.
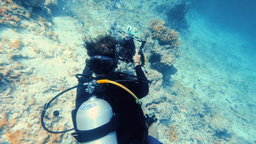
[[[103,80],[103,83],[105,81]],[[85,91],[92,94],[98,83],[100,81],[96,80],[84,83],[84,85],[87,85]],[[117,116],[113,113],[110,104],[104,99],[91,95],[87,101],[80,105],[76,113],[72,111],[72,120],[76,132],[71,135],[77,143],[118,144],[116,137]]]

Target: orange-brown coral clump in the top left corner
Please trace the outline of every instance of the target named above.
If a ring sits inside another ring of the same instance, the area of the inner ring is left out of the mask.
[[[0,24],[18,27],[22,18],[30,18],[28,10],[12,0],[0,0]]]

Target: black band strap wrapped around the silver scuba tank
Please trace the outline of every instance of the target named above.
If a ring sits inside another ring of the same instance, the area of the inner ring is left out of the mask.
[[[80,131],[75,129],[76,132],[72,133],[72,137],[79,143],[85,143],[93,140],[97,140],[109,134],[110,132],[118,129],[118,116],[114,114],[110,121],[102,126],[87,131]]]

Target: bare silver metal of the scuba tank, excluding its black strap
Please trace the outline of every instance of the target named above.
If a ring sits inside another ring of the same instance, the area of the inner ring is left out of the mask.
[[[76,114],[76,126],[80,131],[98,128],[110,121],[113,110],[110,104],[104,99],[92,96],[79,107]],[[116,131],[97,140],[79,144],[118,144]]]

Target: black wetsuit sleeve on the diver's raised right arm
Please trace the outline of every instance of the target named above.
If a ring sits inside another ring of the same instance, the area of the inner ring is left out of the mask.
[[[138,77],[143,77],[147,79],[144,72],[141,69],[140,65],[135,67],[136,75]],[[145,97],[149,94],[149,85],[148,83],[138,82],[135,84],[130,84],[127,86],[130,91],[132,91],[139,99]]]

